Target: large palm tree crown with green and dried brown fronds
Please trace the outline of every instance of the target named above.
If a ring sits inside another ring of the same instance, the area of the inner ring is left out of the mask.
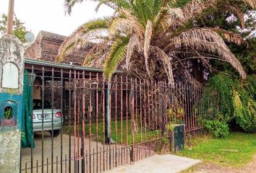
[[[81,1],[65,0],[67,12],[70,14],[72,6]],[[240,6],[255,8],[254,0],[190,0],[182,8],[176,7],[175,0],[98,0],[98,7],[102,4],[115,10],[113,16],[80,26],[62,43],[58,61],[73,48],[90,44],[92,49],[83,65],[103,66],[106,81],[116,68],[125,68],[142,79],[167,79],[174,84],[175,68],[199,84],[186,68],[189,58],[198,58],[205,66],[209,58],[226,61],[246,78],[241,63],[225,43],[247,45],[246,41],[233,32],[191,27],[191,23],[209,9],[222,9],[235,12],[244,25]]]

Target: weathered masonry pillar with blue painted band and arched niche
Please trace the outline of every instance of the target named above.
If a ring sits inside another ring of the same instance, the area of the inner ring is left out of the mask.
[[[14,35],[0,38],[0,172],[20,172],[24,48]]]

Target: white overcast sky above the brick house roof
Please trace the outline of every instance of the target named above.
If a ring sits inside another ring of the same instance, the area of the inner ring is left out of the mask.
[[[9,0],[0,0],[0,14],[7,14],[8,3]],[[113,14],[108,6],[101,6],[96,13],[96,4],[94,1],[76,4],[69,16],[64,14],[64,0],[15,0],[14,12],[35,36],[40,30],[70,35],[90,19]]]

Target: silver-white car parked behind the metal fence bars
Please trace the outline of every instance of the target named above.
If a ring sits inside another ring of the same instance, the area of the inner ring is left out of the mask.
[[[43,106],[43,107],[42,107]],[[54,120],[53,120],[54,118]],[[52,105],[48,101],[44,101],[42,105],[41,99],[33,100],[33,131],[48,131],[53,136],[59,136],[62,128],[63,116],[61,110],[52,109]],[[43,125],[43,126],[42,126]]]

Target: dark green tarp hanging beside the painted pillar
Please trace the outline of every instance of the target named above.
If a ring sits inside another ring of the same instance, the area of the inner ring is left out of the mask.
[[[22,148],[34,148],[34,133],[33,133],[33,83],[35,75],[25,71],[23,81],[23,109],[22,109]]]

